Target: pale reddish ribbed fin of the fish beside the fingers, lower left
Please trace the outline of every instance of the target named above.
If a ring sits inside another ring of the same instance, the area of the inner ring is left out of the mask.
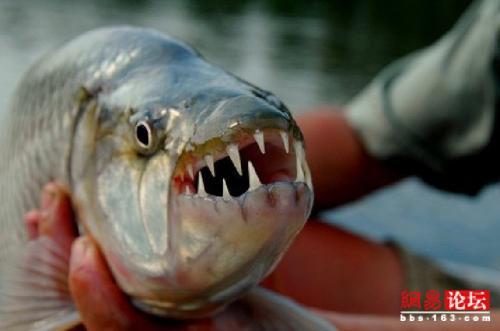
[[[0,272],[0,330],[64,330],[80,323],[68,287],[69,252],[42,236],[20,244]]]

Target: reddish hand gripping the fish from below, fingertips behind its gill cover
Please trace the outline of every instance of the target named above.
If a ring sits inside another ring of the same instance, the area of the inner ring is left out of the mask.
[[[269,308],[267,316],[259,317],[251,299],[232,304],[213,317],[189,322],[160,319],[136,309],[116,285],[94,240],[89,236],[77,236],[71,200],[67,191],[57,184],[45,186],[41,209],[27,213],[25,225],[31,242],[52,241],[59,247],[59,252],[70,256],[67,290],[87,330],[235,330],[254,329],[269,322],[274,328],[277,327],[275,323],[279,323],[273,321],[276,316],[273,317]],[[33,251],[33,254],[38,253]],[[63,283],[61,288],[65,287]],[[65,295],[63,292],[61,296]],[[254,300],[257,299],[256,296]],[[281,302],[276,303],[273,305]],[[294,312],[294,307],[291,308]],[[70,321],[66,327],[74,326],[75,322]]]

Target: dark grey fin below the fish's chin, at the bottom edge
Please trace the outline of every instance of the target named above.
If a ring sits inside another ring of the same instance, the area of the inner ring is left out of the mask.
[[[218,331],[335,331],[332,324],[293,300],[263,288],[231,304],[217,317]]]

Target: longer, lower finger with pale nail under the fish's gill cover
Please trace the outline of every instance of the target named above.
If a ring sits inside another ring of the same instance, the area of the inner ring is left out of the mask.
[[[69,284],[88,330],[129,330],[134,325],[147,330],[154,328],[154,324],[136,311],[120,291],[96,245],[88,237],[80,237],[73,244]]]

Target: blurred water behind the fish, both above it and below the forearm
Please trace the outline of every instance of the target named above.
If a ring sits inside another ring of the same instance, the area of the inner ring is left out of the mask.
[[[342,105],[384,65],[436,40],[469,3],[0,0],[0,111],[34,59],[86,30],[116,24],[183,39],[211,62],[275,92],[296,113]],[[500,270],[498,186],[468,198],[409,179],[324,216],[438,260]]]

